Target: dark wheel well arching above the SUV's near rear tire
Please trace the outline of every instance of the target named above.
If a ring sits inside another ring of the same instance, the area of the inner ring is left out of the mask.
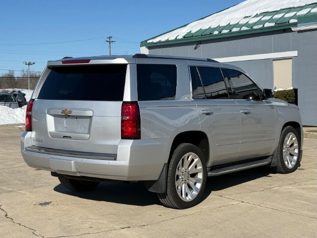
[[[176,147],[181,143],[190,143],[190,144],[196,145],[203,152],[206,158],[206,162],[208,164],[209,140],[207,135],[203,131],[197,131],[197,130],[185,131],[176,135],[169,152],[168,162],[171,159],[171,156],[174,150],[176,149]]]

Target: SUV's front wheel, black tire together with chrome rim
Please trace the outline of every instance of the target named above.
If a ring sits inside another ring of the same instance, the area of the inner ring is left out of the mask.
[[[290,135],[293,137],[289,138]],[[296,139],[293,140],[294,138]],[[287,146],[288,139],[290,139],[290,145]],[[293,143],[291,143],[292,140],[294,141]],[[300,163],[300,148],[301,140],[297,131],[292,126],[286,126],[281,132],[275,152],[277,166],[272,168],[272,172],[279,174],[289,174],[297,170]],[[287,155],[289,155],[289,157]]]

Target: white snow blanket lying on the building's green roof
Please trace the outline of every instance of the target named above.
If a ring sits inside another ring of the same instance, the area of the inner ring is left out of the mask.
[[[248,17],[248,20],[251,19],[251,22],[253,22],[258,20],[256,19],[258,17],[253,19],[252,17],[260,13],[278,11],[280,9],[285,9],[290,7],[299,7],[299,6],[304,6],[306,4],[311,4],[316,2],[317,0],[278,0],[278,1],[277,0],[246,0],[230,8],[227,8],[223,11],[214,13],[203,19],[189,23],[188,25],[184,27],[180,27],[173,31],[167,32],[157,38],[151,39],[148,41],[148,43],[181,39],[188,32],[194,33],[200,29],[207,29],[210,27],[213,28],[213,27],[217,27],[218,25],[226,26],[229,23],[231,25],[236,24],[238,22],[241,22],[241,20],[244,17]],[[304,12],[308,12],[309,10],[304,9],[301,12],[299,12],[298,15],[305,14]],[[278,17],[281,17],[281,16],[278,16]],[[264,20],[264,18],[262,19]],[[257,27],[259,28],[259,26]],[[222,31],[222,33],[224,33],[224,31]]]

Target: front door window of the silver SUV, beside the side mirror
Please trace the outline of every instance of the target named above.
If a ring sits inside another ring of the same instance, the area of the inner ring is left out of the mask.
[[[227,72],[230,76],[230,83],[235,91],[236,99],[260,100],[258,87],[250,78],[237,70],[227,69]]]

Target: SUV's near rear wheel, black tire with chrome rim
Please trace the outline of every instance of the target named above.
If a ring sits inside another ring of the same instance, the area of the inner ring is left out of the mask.
[[[183,166],[183,163],[187,166]],[[188,169],[185,171],[186,167]],[[204,154],[197,146],[182,143],[174,150],[169,162],[166,192],[157,193],[159,201],[164,206],[175,209],[193,207],[202,200],[206,180],[207,167]]]

